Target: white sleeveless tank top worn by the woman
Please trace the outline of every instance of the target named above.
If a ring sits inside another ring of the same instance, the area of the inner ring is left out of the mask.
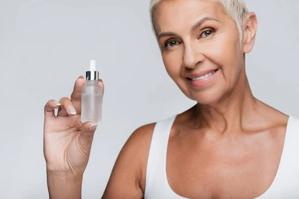
[[[145,199],[187,199],[174,193],[166,177],[166,151],[176,115],[156,122],[149,149]],[[277,175],[256,199],[299,199],[299,119],[290,116]]]

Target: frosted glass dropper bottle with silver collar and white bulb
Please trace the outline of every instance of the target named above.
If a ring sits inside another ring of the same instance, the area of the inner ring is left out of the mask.
[[[102,87],[98,83],[99,72],[96,61],[90,60],[89,71],[86,71],[86,84],[82,87],[81,121],[102,122]]]

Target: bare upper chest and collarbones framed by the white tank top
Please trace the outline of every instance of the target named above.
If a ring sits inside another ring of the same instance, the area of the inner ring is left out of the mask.
[[[179,115],[172,127],[166,167],[170,188],[190,199],[254,199],[268,190],[278,170],[287,118],[275,121],[281,115],[272,110],[276,115],[264,124],[231,135],[194,125],[194,109]]]

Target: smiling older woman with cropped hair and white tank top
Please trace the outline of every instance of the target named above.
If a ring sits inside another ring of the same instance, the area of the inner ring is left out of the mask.
[[[245,73],[255,13],[243,0],[151,0],[150,9],[167,73],[198,103],[133,132],[103,198],[298,198],[299,121],[257,100]],[[45,105],[51,199],[81,198],[97,126],[80,122],[84,84],[78,78],[71,99]]]

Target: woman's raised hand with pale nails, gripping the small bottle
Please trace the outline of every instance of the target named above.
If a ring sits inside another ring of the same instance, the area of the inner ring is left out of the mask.
[[[82,176],[87,166],[96,122],[81,122],[81,90],[85,80],[80,76],[74,86],[71,99],[62,98],[59,103],[49,100],[44,112],[44,157],[47,173]],[[99,85],[103,89],[102,80]],[[54,109],[58,108],[57,116]]]

